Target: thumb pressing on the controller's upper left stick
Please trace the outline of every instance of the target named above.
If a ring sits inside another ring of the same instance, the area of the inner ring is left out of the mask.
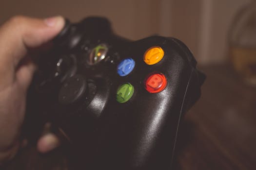
[[[1,47],[5,47],[2,52],[12,55],[1,55],[1,58],[6,60],[19,59],[24,56],[28,48],[39,47],[52,39],[63,26],[63,17],[37,19],[16,16],[11,18],[0,29],[0,44],[4,44]]]

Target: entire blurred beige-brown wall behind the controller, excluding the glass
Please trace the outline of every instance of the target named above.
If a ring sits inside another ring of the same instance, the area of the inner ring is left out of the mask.
[[[227,31],[238,8],[250,0],[1,0],[0,23],[21,14],[62,15],[79,21],[105,16],[129,39],[152,34],[184,41],[199,63],[223,62]]]

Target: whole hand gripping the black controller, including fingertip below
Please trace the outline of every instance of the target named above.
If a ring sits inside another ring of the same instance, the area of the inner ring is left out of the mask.
[[[0,27],[0,164],[11,159],[21,145],[26,93],[36,69],[30,51],[54,38],[63,26],[62,17],[18,16]],[[38,150],[47,152],[58,143],[52,134],[43,136]]]

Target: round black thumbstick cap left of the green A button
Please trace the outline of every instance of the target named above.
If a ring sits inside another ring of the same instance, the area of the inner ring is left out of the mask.
[[[79,101],[87,88],[86,80],[81,75],[67,79],[59,90],[59,103],[72,104]]]

